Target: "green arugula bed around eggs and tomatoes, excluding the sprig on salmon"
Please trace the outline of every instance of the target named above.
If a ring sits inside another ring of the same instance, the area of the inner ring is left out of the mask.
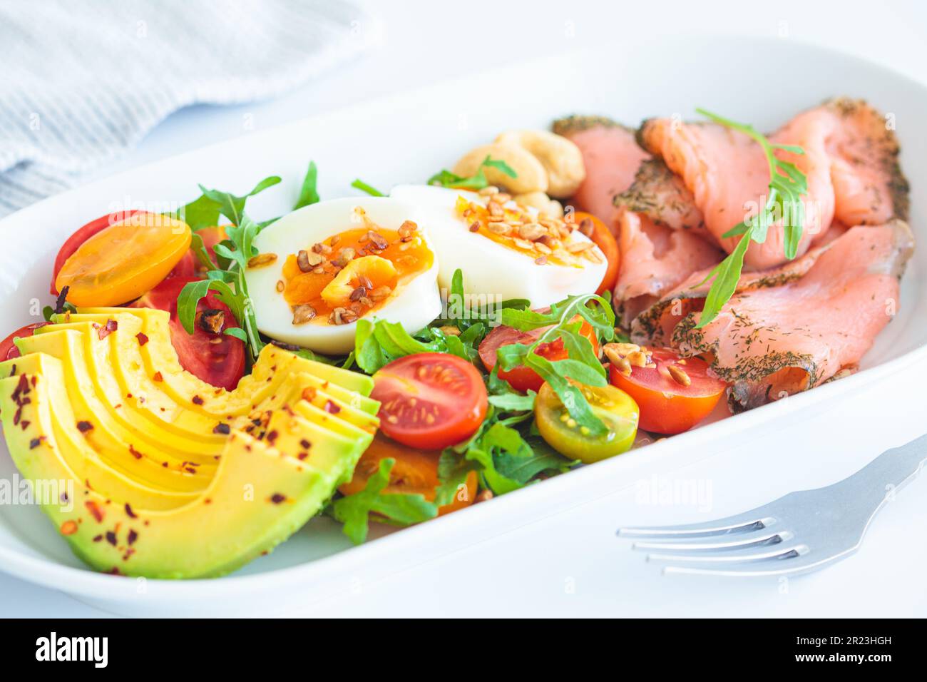
[[[503,161],[487,157],[472,177],[463,178],[442,171],[429,183],[480,189],[488,185],[487,168],[496,168],[514,177],[512,169]],[[320,199],[317,180],[318,168],[311,162],[294,210]],[[178,296],[178,316],[184,329],[189,333],[195,331],[197,304],[212,291],[229,307],[241,326],[228,328],[225,333],[246,343],[251,362],[268,340],[262,339],[258,331],[245,272],[248,261],[259,255],[254,246],[255,238],[276,218],[256,223],[246,212],[246,204],[250,197],[279,182],[280,178],[275,175],[264,178],[241,196],[200,186],[201,195],[174,214],[193,229],[192,249],[206,270],[205,279],[188,283]],[[372,196],[382,196],[375,187],[360,179],[355,180],[352,187]],[[222,216],[230,223],[225,227],[228,238],[216,244],[210,254],[197,232],[219,225]],[[378,470],[367,480],[362,491],[353,495],[338,494],[326,507],[325,512],[343,524],[344,533],[354,543],[366,539],[372,520],[405,526],[436,517],[438,508],[450,504],[455,496],[469,494],[466,483],[474,473],[482,490],[502,495],[576,465],[540,438],[534,421],[537,395],[514,391],[507,381],[499,378],[500,369],[520,365],[530,367],[550,383],[580,424],[587,426],[592,433],[604,429],[582,392],[566,378],[594,386],[604,385],[607,381],[592,343],[579,333],[579,328],[586,322],[595,329],[600,341],[611,341],[615,337],[615,313],[607,297],[592,294],[572,296],[553,304],[546,312],[530,310],[530,302],[524,300],[480,301],[473,307],[465,305],[467,302],[470,301],[465,296],[464,274],[457,270],[451,278],[444,312],[424,329],[410,333],[399,323],[362,317],[357,321],[354,350],[347,357],[329,358],[307,349],[290,348],[311,359],[356,368],[367,374],[374,374],[392,360],[419,353],[454,354],[484,372],[489,396],[487,417],[464,443],[445,448],[438,456],[439,483],[434,501],[426,500],[423,495],[385,492],[396,463],[393,458],[387,457],[380,461]],[[523,331],[543,329],[543,332],[529,344],[515,343],[499,348],[496,369],[485,374],[478,348],[497,324]],[[555,340],[563,341],[567,351],[565,359],[552,361],[539,352],[541,344]]]

